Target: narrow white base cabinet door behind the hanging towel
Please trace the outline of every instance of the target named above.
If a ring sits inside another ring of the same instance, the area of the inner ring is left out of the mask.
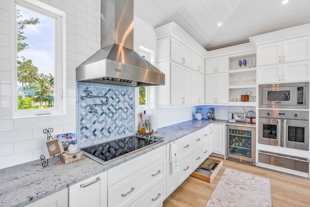
[[[171,144],[177,144],[177,141],[167,144],[167,197],[178,187],[177,172],[173,173],[173,162],[171,158]],[[180,158],[179,158],[180,159]],[[171,161],[170,161],[171,160]]]

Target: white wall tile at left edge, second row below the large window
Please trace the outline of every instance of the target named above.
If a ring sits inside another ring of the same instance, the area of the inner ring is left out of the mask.
[[[13,127],[13,120],[12,120],[12,127]],[[0,144],[15,143],[31,139],[32,139],[32,129],[13,131],[12,128],[10,131],[0,132]]]

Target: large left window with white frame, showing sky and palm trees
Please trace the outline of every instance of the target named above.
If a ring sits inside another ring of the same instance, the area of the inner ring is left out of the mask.
[[[38,2],[45,9],[15,2],[13,117],[62,113],[64,13]]]

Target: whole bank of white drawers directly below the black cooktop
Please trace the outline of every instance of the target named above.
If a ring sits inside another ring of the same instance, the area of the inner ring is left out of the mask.
[[[155,186],[165,178],[166,146],[113,167],[108,170],[108,206],[129,206],[134,202],[145,206],[141,203],[144,195],[163,201],[166,199],[166,191],[156,192]]]

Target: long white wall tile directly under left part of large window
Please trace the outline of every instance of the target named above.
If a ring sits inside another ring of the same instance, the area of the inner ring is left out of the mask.
[[[48,117],[34,117],[34,118],[22,118],[14,119],[14,130],[22,130],[28,128],[48,127]]]

